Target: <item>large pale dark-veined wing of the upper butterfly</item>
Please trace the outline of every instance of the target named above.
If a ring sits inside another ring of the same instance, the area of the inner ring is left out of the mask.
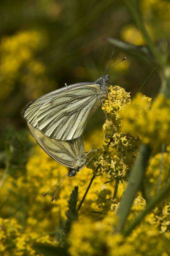
[[[101,104],[101,94],[99,84],[70,85],[28,104],[23,114],[49,138],[72,140],[84,132],[86,123]]]

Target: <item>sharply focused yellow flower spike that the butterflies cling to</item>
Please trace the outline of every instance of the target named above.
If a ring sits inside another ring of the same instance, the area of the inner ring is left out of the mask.
[[[138,152],[139,139],[120,132],[120,110],[131,103],[130,93],[120,86],[110,86],[104,110],[107,120],[103,125],[105,140],[88,164],[95,175],[104,175],[112,182],[127,180],[129,168]]]

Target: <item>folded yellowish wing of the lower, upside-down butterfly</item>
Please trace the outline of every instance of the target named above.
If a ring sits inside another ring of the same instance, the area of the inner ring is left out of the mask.
[[[54,160],[69,168],[76,168],[76,160],[84,155],[84,144],[82,136],[75,140],[55,140],[42,134],[28,122],[28,128],[36,142]]]

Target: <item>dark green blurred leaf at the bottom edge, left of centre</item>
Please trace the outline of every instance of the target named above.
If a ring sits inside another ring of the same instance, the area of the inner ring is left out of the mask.
[[[66,247],[57,247],[49,244],[34,244],[34,250],[41,253],[44,256],[69,256]]]

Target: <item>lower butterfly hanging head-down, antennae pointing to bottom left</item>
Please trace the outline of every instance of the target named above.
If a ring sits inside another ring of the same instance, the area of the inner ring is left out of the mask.
[[[48,136],[42,134],[39,130],[34,128],[31,124],[28,124],[28,128],[36,142],[51,158],[70,168],[69,172],[66,173],[54,186],[60,183],[60,186],[66,177],[75,176],[80,170],[82,170],[87,164],[86,156],[95,150],[90,150],[88,153],[84,153],[84,142],[83,136],[73,140],[55,140],[50,139]],[[53,187],[54,187],[53,186]],[[60,186],[56,190],[58,192]],[[52,188],[53,188],[52,187]],[[52,189],[50,188],[50,190]],[[48,190],[48,192],[50,191]],[[48,193],[47,192],[47,193]],[[44,196],[46,196],[46,194]],[[56,193],[54,194],[52,201],[54,200]]]

